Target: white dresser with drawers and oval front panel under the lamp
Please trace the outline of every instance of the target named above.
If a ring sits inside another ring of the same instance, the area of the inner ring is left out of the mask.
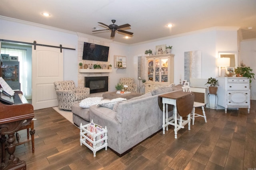
[[[246,77],[217,77],[218,105],[225,108],[248,108],[250,112],[250,79]]]

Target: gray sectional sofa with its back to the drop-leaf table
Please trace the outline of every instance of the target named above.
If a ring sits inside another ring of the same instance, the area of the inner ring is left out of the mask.
[[[142,96],[118,102],[113,110],[90,106],[90,120],[107,127],[108,147],[118,156],[123,156],[132,147],[162,129],[163,113],[158,106],[158,96],[176,90],[182,90],[182,86],[158,88]]]

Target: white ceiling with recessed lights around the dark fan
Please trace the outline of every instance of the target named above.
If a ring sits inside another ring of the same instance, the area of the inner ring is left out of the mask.
[[[42,16],[48,12],[50,17]],[[216,26],[240,27],[242,39],[256,38],[256,0],[0,0],[0,16],[110,39],[110,31],[129,23],[133,36],[114,41],[134,44]],[[172,28],[166,27],[172,23]],[[253,27],[253,29],[247,29]]]

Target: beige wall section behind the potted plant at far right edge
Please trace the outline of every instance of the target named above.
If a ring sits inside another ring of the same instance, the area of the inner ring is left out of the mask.
[[[256,75],[256,39],[242,41],[240,43],[240,59],[246,65],[252,68],[252,72]],[[254,76],[256,78],[256,76]],[[250,84],[251,100],[256,100],[256,80],[251,79]]]

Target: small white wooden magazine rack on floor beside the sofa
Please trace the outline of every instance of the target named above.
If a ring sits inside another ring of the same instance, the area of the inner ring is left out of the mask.
[[[107,143],[107,127],[102,128],[101,132],[97,132],[97,133],[92,133],[90,131],[88,131],[88,126],[91,125],[93,123],[93,121],[91,121],[91,123],[87,124],[87,125],[82,125],[82,123],[80,124],[80,145],[82,146],[82,144],[84,144],[86,147],[88,147],[90,150],[92,150],[93,152],[93,157],[96,157],[96,152],[102,148],[105,148],[105,150],[108,149],[108,143]],[[93,123],[94,125],[97,125],[95,123]],[[86,134],[91,135],[93,137],[93,140],[91,140],[89,137],[86,136]],[[104,134],[104,137],[102,137],[102,135]],[[87,141],[90,141],[90,143],[92,143],[92,147],[86,143]]]

